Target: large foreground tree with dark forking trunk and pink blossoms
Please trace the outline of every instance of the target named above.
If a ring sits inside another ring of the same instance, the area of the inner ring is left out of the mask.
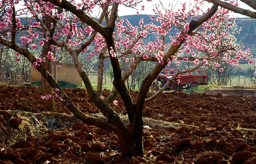
[[[171,79],[173,80],[180,73],[194,71],[201,66],[219,67],[215,60],[220,59],[220,56],[233,66],[236,66],[241,58],[253,62],[249,59],[251,54],[248,50],[244,51],[239,45],[232,44],[228,31],[215,33],[220,28],[230,29],[234,25],[234,19],[228,17],[229,11],[218,9],[217,5],[203,9],[202,1],[195,1],[193,5],[183,3],[178,10],[172,8],[171,4],[163,6],[159,3],[156,6],[157,10],[154,10],[157,16],[151,16],[157,25],[153,23],[144,25],[143,19],[140,19],[139,25],[135,27],[128,20],[117,19],[118,7],[124,5],[127,8],[137,8],[141,0],[85,0],[83,3],[67,0],[25,0],[18,11],[15,11],[15,7],[21,3],[19,0],[5,1],[1,4],[7,6],[5,8],[7,14],[3,12],[4,16],[1,17],[0,43],[27,57],[49,82],[55,96],[59,97],[77,118],[84,123],[115,132],[127,157],[143,156],[143,105],[163,91],[164,87],[146,99],[151,83],[166,65],[188,63],[188,69],[176,73]],[[144,9],[144,6],[140,7]],[[99,17],[92,17],[90,14],[93,11],[99,11]],[[28,12],[30,17],[27,17],[26,21],[30,24],[24,26],[18,15],[22,16]],[[40,19],[45,15],[54,21],[50,27]],[[227,23],[225,27],[221,27],[223,22]],[[51,29],[55,25],[53,32]],[[27,29],[26,33],[24,33],[25,29]],[[172,30],[179,32],[173,36],[169,35]],[[143,38],[149,34],[157,34],[158,37],[146,43]],[[18,45],[17,40],[21,40],[22,45]],[[30,52],[29,47],[36,49],[44,44],[51,44],[51,49],[55,51],[64,48],[72,56],[76,71],[83,79],[89,96],[107,121],[87,116],[78,110],[52,75],[42,66],[45,59],[55,60],[52,51],[46,52],[41,57]],[[90,47],[93,47],[93,50]],[[96,91],[93,90],[87,72],[78,58],[81,53],[88,54],[88,60],[94,55],[99,58]],[[120,58],[131,62],[123,74]],[[104,98],[101,96],[102,74],[104,60],[107,59],[110,59],[113,68],[114,88]],[[156,64],[145,76],[137,99],[133,100],[125,81],[141,61],[151,61]],[[117,92],[121,95],[127,110],[130,128],[125,126],[120,116],[109,105],[112,102],[118,105],[118,101],[114,100]],[[49,99],[52,96],[48,94],[41,97]]]

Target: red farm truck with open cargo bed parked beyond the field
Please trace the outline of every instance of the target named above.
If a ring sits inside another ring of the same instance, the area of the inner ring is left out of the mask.
[[[182,69],[181,69],[182,70]],[[185,70],[185,69],[184,69]],[[165,83],[180,69],[165,68],[161,71],[150,86],[151,91],[158,91]],[[207,85],[207,69],[195,70],[193,72],[182,73],[175,77],[174,81],[170,83],[165,90],[183,90],[188,88],[195,88],[199,85]]]

